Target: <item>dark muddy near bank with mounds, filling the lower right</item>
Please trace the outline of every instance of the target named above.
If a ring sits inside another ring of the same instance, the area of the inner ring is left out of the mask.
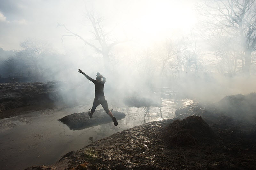
[[[56,164],[27,169],[256,169],[256,95],[239,96],[180,108],[175,119],[124,130],[68,152]],[[248,108],[237,115],[222,103]],[[248,115],[250,120],[241,119]]]

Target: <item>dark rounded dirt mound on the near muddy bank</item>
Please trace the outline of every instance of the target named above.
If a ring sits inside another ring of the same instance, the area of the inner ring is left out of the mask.
[[[212,129],[200,116],[188,116],[183,120],[175,120],[165,133],[165,139],[172,147],[212,143],[215,138]]]

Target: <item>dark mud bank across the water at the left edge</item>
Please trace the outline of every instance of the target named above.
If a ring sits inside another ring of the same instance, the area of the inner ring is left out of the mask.
[[[0,83],[0,119],[11,117],[4,110],[60,101],[60,82]]]

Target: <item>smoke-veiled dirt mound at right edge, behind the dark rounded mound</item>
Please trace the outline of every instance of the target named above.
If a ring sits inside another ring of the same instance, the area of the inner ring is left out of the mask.
[[[211,106],[189,105],[176,111],[175,119],[199,115],[212,128],[219,142],[233,148],[251,147],[256,141],[256,93],[227,96]],[[246,143],[246,144],[245,144]]]

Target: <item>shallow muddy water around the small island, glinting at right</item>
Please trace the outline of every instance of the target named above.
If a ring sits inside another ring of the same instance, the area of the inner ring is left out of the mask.
[[[82,149],[92,141],[147,122],[171,119],[175,116],[177,105],[187,100],[174,100],[171,92],[162,94],[159,107],[115,107],[115,103],[108,100],[110,108],[126,114],[124,119],[118,121],[117,127],[111,122],[82,130],[70,130],[58,121],[66,115],[88,111],[91,105],[59,106],[33,111],[9,110],[24,114],[0,120],[0,169],[24,169],[28,166],[53,164],[67,152]],[[88,103],[91,104],[92,100]]]

